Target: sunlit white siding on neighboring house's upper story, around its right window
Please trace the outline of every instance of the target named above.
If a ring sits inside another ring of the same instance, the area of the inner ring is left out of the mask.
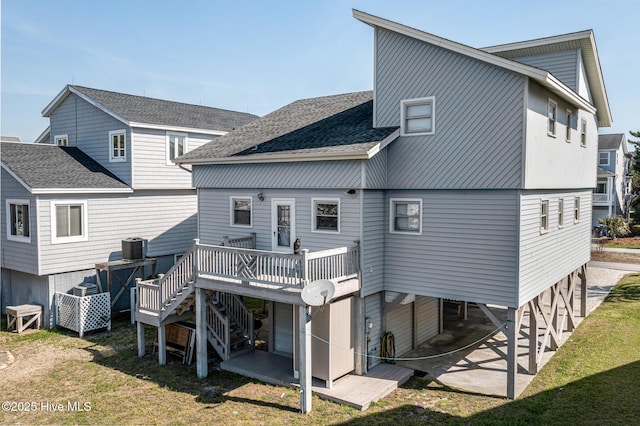
[[[196,149],[215,136],[187,133],[188,150]],[[134,189],[191,188],[191,173],[177,165],[167,165],[167,132],[134,129]]]

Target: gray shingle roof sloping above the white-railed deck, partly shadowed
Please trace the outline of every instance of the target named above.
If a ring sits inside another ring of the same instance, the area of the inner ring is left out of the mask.
[[[373,127],[373,92],[295,101],[180,157],[180,161],[272,153],[367,149],[397,127]]]

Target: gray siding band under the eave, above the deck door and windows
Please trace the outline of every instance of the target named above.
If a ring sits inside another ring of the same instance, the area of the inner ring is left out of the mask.
[[[197,188],[360,188],[359,161],[219,164],[193,167]]]

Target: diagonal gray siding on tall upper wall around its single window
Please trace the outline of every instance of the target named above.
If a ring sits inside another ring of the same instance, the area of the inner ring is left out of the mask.
[[[400,125],[401,100],[435,97],[435,134],[387,148],[389,188],[521,185],[522,76],[382,29],[375,49],[377,126]]]

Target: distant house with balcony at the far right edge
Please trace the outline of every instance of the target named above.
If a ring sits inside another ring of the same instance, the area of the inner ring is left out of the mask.
[[[592,225],[607,216],[629,218],[632,155],[624,133],[598,136],[598,186],[593,194]]]

